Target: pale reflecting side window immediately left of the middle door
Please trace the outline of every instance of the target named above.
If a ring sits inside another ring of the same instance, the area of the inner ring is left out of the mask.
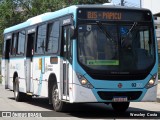
[[[17,55],[24,55],[25,38],[26,38],[25,31],[19,32]]]

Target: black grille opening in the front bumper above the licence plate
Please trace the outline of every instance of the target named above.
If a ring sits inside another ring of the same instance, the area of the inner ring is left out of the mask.
[[[104,92],[104,91],[99,91],[98,95],[100,96],[101,99],[103,100],[112,100],[113,97],[117,96],[122,96],[122,97],[127,97],[128,100],[137,100],[142,94],[142,91],[130,91],[130,92]]]

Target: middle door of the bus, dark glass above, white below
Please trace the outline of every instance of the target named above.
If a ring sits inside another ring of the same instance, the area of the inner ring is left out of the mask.
[[[27,35],[26,46],[26,60],[25,60],[25,80],[26,80],[26,92],[32,94],[32,59],[33,59],[33,44],[35,40],[35,33],[29,33]]]

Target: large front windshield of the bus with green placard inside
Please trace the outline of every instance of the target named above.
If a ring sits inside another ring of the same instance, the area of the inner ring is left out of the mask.
[[[145,71],[155,58],[152,34],[140,23],[79,25],[78,61],[90,70]]]

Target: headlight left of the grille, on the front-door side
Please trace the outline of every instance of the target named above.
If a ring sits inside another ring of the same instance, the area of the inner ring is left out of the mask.
[[[86,87],[89,89],[93,88],[93,85],[83,75],[77,73],[77,77],[83,87]]]

